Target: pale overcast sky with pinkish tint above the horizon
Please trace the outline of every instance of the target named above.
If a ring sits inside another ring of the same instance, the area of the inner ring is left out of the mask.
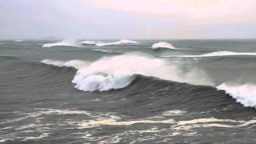
[[[256,0],[0,0],[0,38],[256,38]]]

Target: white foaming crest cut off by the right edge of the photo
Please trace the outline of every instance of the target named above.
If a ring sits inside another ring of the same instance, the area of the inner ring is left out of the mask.
[[[254,84],[229,85],[222,83],[217,86],[217,89],[225,90],[226,94],[230,94],[232,98],[242,103],[243,106],[256,108],[256,85]]]

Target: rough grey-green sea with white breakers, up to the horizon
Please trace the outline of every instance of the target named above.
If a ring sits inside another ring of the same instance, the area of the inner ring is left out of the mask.
[[[0,41],[0,143],[256,143],[256,40]]]

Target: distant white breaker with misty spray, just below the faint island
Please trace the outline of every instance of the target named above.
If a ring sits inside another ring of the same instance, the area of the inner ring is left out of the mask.
[[[42,47],[53,47],[53,46],[81,46],[78,42],[70,39],[64,39],[61,42],[46,43]]]

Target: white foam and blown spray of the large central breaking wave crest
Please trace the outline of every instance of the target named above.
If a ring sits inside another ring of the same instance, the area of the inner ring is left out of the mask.
[[[185,73],[178,66],[170,65],[162,59],[134,54],[101,58],[95,62],[46,59],[42,63],[76,68],[78,71],[72,82],[76,84],[76,89],[83,91],[121,89],[130,85],[136,74],[196,85],[212,85],[210,78],[202,70]]]

